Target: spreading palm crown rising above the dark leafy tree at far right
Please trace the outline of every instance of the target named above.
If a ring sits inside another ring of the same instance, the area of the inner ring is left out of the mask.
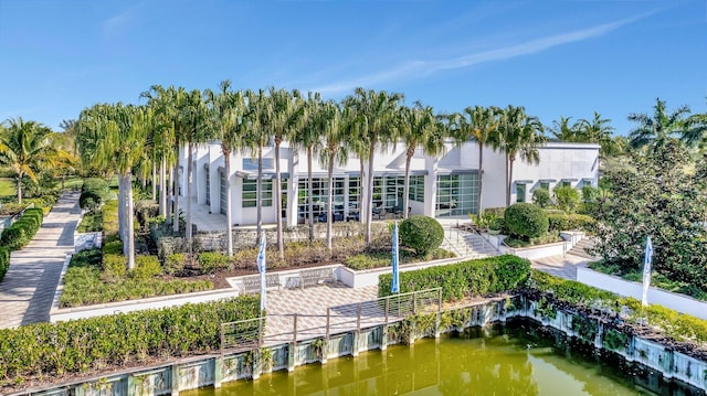
[[[630,121],[639,124],[635,129],[629,132],[631,147],[635,149],[648,147],[654,152],[659,151],[675,136],[688,133],[690,128],[685,119],[688,114],[689,107],[687,106],[680,106],[668,114],[665,100],[655,99],[653,117],[645,113],[629,115]]]

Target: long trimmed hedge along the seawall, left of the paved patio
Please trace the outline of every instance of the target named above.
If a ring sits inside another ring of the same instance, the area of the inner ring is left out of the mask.
[[[218,351],[221,323],[257,318],[260,300],[236,299],[0,330],[0,385],[12,378]]]

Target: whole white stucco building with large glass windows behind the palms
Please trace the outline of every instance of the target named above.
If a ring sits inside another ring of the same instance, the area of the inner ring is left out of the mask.
[[[187,193],[187,152],[181,150],[180,189]],[[513,172],[510,202],[530,202],[532,191],[540,188],[553,189],[567,184],[580,189],[582,185],[597,186],[599,176],[599,145],[549,142],[539,148],[540,162],[527,163],[516,159]],[[275,179],[274,147],[263,150],[263,222],[275,223],[276,211],[273,200]],[[233,153],[231,174],[224,174],[223,153],[219,142],[203,145],[192,154],[192,195],[198,204],[209,205],[212,213],[225,213],[224,178],[231,178],[231,205],[234,225],[250,225],[256,222],[255,183],[257,162],[249,153]],[[368,161],[366,161],[368,164]],[[304,150],[281,148],[281,173],[283,182],[283,222],[293,226],[304,222],[307,202],[307,158]],[[373,165],[374,212],[402,207],[405,170],[405,150],[402,143],[389,147],[384,152],[376,152]],[[360,194],[365,194],[366,179],[360,178],[360,161],[349,154],[346,164],[335,167],[335,213],[344,216],[358,212]],[[370,174],[368,170],[365,175]],[[444,154],[428,157],[418,150],[412,159],[410,172],[410,204],[412,214],[432,217],[464,216],[476,212],[478,194],[478,147],[469,141],[461,147],[450,142]],[[483,207],[498,207],[506,204],[505,156],[484,149]],[[314,201],[316,213],[328,208],[326,167],[313,159]],[[362,182],[362,183],[361,183]],[[363,189],[361,189],[361,185]],[[366,203],[363,196],[363,203]],[[366,205],[366,204],[363,204]],[[363,207],[366,213],[367,208]]]

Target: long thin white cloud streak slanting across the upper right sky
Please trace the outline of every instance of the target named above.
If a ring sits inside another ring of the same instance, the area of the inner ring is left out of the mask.
[[[389,71],[374,73],[367,76],[360,76],[340,83],[324,85],[315,88],[314,90],[325,95],[339,94],[351,90],[352,88],[359,86],[370,86],[395,79],[419,78],[421,76],[429,76],[441,71],[464,68],[486,62],[505,61],[518,56],[530,55],[558,45],[576,43],[604,35],[645,15],[646,14],[643,14],[616,22],[600,24],[598,26],[589,29],[556,34],[516,45],[467,54],[454,58],[436,61],[411,61]]]

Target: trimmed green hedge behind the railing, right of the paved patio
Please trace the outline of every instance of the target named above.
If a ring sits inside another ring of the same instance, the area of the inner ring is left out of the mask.
[[[482,296],[525,286],[530,261],[511,255],[400,272],[400,292],[441,287],[445,301]],[[378,296],[390,296],[390,274],[379,277]]]

